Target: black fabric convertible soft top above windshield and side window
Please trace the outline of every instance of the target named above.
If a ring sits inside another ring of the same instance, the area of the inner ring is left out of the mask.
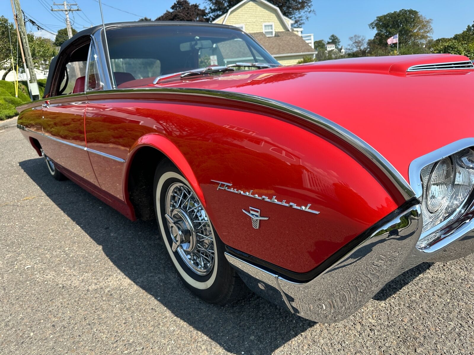
[[[219,25],[213,24],[209,22],[191,22],[191,21],[136,21],[136,22],[113,22],[105,24],[106,28],[109,27],[127,27],[127,26],[150,26],[150,25],[173,25],[173,26],[210,26],[210,27],[226,27],[226,28],[235,28],[229,25]],[[45,86],[45,93],[44,96],[49,95],[51,93],[51,80],[53,75],[56,71],[56,63],[58,58],[61,56],[61,53],[67,48],[71,43],[73,43],[76,39],[83,36],[90,36],[93,35],[97,30],[100,30],[102,25],[97,25],[93,27],[86,28],[81,32],[76,33],[63,44],[61,44],[61,48],[59,49],[59,53],[51,60],[49,64],[49,72],[48,72],[48,79],[46,79],[46,86]]]

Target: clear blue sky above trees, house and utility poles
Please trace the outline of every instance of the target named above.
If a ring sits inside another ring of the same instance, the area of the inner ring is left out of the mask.
[[[59,2],[59,0],[55,2]],[[76,0],[75,2],[83,10],[71,15],[77,30],[81,30],[84,26],[91,26],[91,23],[100,24],[98,2],[94,0]],[[204,4],[204,1],[191,0],[190,2]],[[64,27],[64,14],[49,11],[52,3],[52,0],[21,0],[22,9],[27,15],[55,32],[58,28]],[[156,18],[169,9],[173,3],[174,0],[104,0],[102,2],[106,22],[134,21],[138,19],[135,15]],[[129,13],[112,9],[105,4]],[[313,33],[315,39],[324,40],[334,33],[341,39],[343,45],[347,45],[349,36],[354,34],[372,38],[374,31],[369,29],[368,24],[379,15],[400,9],[415,9],[425,17],[432,18],[433,38],[451,37],[462,32],[474,20],[472,0],[458,0],[456,2],[441,0],[332,0],[313,1],[313,8],[316,15],[312,15],[303,26],[303,33]],[[9,1],[3,0],[0,14],[12,19]],[[31,28],[30,25],[28,27]],[[41,35],[54,37],[47,32],[42,32]],[[402,41],[403,38],[400,40]]]

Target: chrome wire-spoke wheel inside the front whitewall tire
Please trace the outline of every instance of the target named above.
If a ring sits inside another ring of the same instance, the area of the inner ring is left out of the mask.
[[[214,232],[201,203],[181,182],[166,191],[165,220],[173,252],[196,274],[207,275],[214,265]]]

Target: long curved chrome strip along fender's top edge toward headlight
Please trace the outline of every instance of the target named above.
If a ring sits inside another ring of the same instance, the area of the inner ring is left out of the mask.
[[[392,164],[386,160],[382,154],[376,151],[372,146],[367,144],[361,138],[356,136],[354,133],[348,131],[346,128],[328,120],[327,118],[317,115],[301,107],[290,105],[278,100],[271,98],[264,98],[255,95],[243,94],[238,92],[221,91],[221,90],[210,90],[210,89],[188,89],[188,88],[140,88],[140,89],[116,89],[107,91],[90,92],[87,94],[88,98],[94,98],[100,95],[114,94],[128,94],[131,98],[136,97],[137,99],[143,99],[142,94],[144,93],[157,93],[164,95],[185,95],[185,96],[201,96],[210,98],[225,98],[237,102],[251,103],[262,107],[270,107],[280,112],[294,115],[307,122],[315,124],[328,132],[336,135],[338,138],[348,142],[358,151],[365,155],[368,159],[372,160],[374,164],[383,171],[383,173],[392,181],[394,186],[400,191],[401,195],[409,200],[415,194],[411,189],[411,186],[405,180],[404,177],[392,166]],[[53,99],[53,98],[51,98]]]

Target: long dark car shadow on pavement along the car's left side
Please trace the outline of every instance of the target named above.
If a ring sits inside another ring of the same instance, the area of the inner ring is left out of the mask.
[[[271,354],[316,324],[252,293],[228,306],[201,301],[174,272],[155,222],[130,222],[72,181],[53,179],[44,164],[42,158],[37,158],[21,161],[19,166],[55,205],[102,246],[104,254],[124,275],[226,351]]]

